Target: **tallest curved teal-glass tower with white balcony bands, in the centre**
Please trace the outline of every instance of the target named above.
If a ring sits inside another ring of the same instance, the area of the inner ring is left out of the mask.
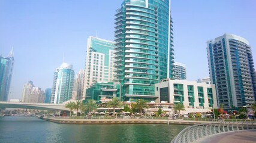
[[[125,0],[115,16],[115,71],[122,99],[155,100],[155,83],[173,77],[170,1]]]

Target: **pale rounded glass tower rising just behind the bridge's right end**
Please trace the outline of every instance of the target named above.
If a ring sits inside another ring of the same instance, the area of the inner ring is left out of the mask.
[[[71,100],[74,87],[74,70],[71,64],[62,63],[53,77],[52,100],[54,104]]]

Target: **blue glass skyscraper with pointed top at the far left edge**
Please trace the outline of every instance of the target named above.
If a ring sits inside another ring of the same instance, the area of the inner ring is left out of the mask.
[[[13,76],[14,52],[11,49],[8,57],[0,55],[0,101],[7,101]]]

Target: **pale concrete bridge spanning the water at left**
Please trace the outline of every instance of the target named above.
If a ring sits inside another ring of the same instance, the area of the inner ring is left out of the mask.
[[[29,102],[0,102],[0,108],[29,108],[35,110],[70,111],[65,104],[29,103]]]

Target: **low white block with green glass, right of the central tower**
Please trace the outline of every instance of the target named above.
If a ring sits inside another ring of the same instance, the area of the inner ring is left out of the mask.
[[[207,109],[217,107],[215,85],[188,80],[165,79],[155,84],[156,102],[181,103],[186,109]],[[190,110],[197,111],[197,110]]]

